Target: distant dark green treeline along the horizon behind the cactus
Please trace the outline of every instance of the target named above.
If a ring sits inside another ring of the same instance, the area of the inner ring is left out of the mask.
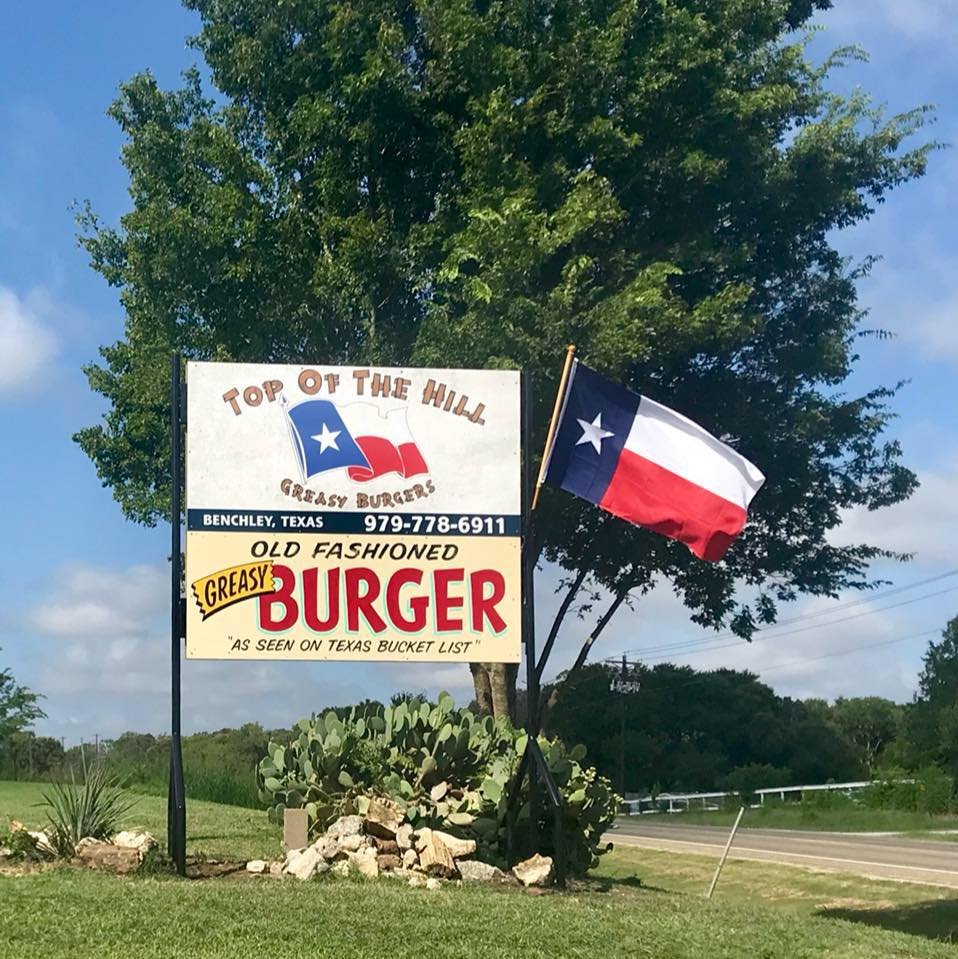
[[[790,699],[750,673],[671,663],[629,667],[625,678],[630,688],[637,682],[638,691],[613,691],[616,677],[618,667],[596,664],[547,686],[546,729],[585,745],[590,761],[628,793],[746,792],[929,769],[958,778],[958,619],[929,646],[915,700],[904,706],[875,696]],[[421,697],[397,693],[392,701],[410,698]],[[520,712],[523,707],[520,697]],[[270,739],[290,735],[247,723],[184,737],[188,794],[257,807],[253,769]],[[132,788],[165,792],[167,737],[124,733],[101,742],[99,755]],[[0,743],[0,778],[61,778],[93,758],[92,745],[64,752],[58,740],[20,732]]]

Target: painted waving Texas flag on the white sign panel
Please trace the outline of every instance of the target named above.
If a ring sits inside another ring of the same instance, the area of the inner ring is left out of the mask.
[[[337,407],[330,400],[306,400],[286,414],[304,481],[335,469],[359,483],[386,473],[408,479],[429,472],[404,407],[383,415],[371,403]]]

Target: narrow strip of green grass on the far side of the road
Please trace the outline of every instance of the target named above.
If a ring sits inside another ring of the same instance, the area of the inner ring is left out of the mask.
[[[648,822],[688,823],[696,826],[731,826],[738,810],[715,812],[661,813],[643,816]],[[894,809],[817,809],[813,805],[772,805],[747,809],[742,826],[762,829],[822,829],[828,832],[909,832],[927,833],[937,829],[958,830],[958,816],[930,816],[927,813]],[[947,838],[947,837],[945,837]]]

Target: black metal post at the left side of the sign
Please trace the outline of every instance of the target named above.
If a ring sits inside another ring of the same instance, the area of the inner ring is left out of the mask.
[[[167,852],[176,871],[186,875],[186,787],[183,782],[183,746],[180,728],[181,645],[186,637],[186,621],[180,592],[183,584],[183,550],[180,542],[180,521],[183,495],[183,394],[180,354],[174,353],[170,382],[170,650],[172,716],[170,723],[170,787],[167,797]]]

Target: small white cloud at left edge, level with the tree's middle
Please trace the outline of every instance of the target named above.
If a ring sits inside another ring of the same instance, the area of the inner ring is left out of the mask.
[[[42,294],[21,299],[0,286],[0,396],[36,384],[57,352],[57,337],[43,318]]]

